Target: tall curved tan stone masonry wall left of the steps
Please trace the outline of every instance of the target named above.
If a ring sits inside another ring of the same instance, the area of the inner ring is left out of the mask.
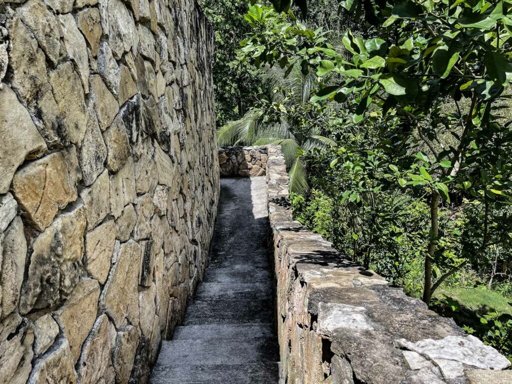
[[[0,2],[0,384],[145,383],[219,163],[194,0]]]

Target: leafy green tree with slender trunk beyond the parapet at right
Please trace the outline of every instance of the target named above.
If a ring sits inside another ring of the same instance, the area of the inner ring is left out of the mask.
[[[443,282],[468,263],[478,265],[491,247],[510,247],[512,228],[504,218],[512,190],[507,155],[512,131],[501,110],[512,78],[512,5],[484,0],[340,5],[355,14],[364,10],[373,25],[366,36],[347,30],[344,49],[322,29],[298,23],[288,3],[279,8],[284,13],[249,8],[253,33],[242,51],[257,67],[279,65],[287,72],[300,65],[305,73],[315,71],[319,81],[310,101],[344,104],[337,116],[340,132],[354,131],[347,117],[352,126],[376,124],[363,135],[364,151],[347,145],[347,137],[338,140],[330,164],[340,167],[335,179],[345,189],[334,190],[357,208],[352,228],[358,222],[376,228],[368,236],[389,240],[389,249],[404,237],[396,226],[403,214],[395,199],[404,195],[429,204],[430,221],[422,232],[428,242],[421,251],[423,300],[429,303]],[[447,112],[447,104],[454,111]],[[467,205],[479,204],[478,214],[466,212],[451,229],[440,219],[440,206],[461,196]],[[500,233],[493,233],[496,228]],[[364,244],[361,257],[369,264],[371,257],[364,255],[374,241]]]

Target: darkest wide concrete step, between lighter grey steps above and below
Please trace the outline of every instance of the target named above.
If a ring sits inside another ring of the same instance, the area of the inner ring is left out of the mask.
[[[246,300],[228,296],[190,302],[183,325],[272,323],[271,298]]]

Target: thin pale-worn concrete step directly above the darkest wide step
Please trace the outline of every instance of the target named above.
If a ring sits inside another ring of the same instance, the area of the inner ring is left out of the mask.
[[[255,298],[267,298],[272,296],[271,284],[266,282],[254,283],[221,283],[221,282],[203,282],[199,284],[195,300],[212,300],[222,297],[246,298],[254,300]]]

